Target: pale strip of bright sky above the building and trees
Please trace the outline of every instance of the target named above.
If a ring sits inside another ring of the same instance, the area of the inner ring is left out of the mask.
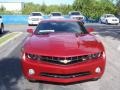
[[[46,5],[72,4],[73,1],[74,0],[0,0],[0,2],[33,2],[38,4],[42,4],[44,2]]]

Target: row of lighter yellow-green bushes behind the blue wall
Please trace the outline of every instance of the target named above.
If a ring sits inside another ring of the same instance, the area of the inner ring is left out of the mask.
[[[25,3],[24,8],[22,10],[23,14],[30,14],[33,11],[43,12],[45,14],[49,14],[51,12],[62,12],[63,14],[67,14],[72,10],[71,5],[49,5],[47,6],[44,2],[42,5],[34,4],[34,3]]]

